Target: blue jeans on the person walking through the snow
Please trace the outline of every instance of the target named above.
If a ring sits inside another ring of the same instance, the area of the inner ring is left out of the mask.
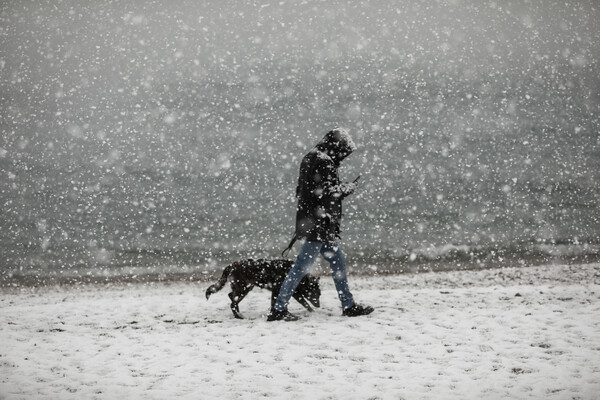
[[[350,288],[348,287],[348,276],[346,275],[346,259],[344,253],[337,244],[330,245],[321,242],[304,242],[300,247],[298,258],[288,272],[281,290],[275,301],[275,310],[283,311],[287,309],[288,303],[298,287],[298,284],[313,266],[317,256],[321,253],[323,258],[329,262],[333,275],[333,282],[338,292],[338,297],[342,302],[342,309],[352,307],[354,299]]]

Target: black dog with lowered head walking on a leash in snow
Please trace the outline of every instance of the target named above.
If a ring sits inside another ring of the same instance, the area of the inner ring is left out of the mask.
[[[225,268],[223,275],[217,283],[206,289],[206,299],[208,300],[211,294],[223,289],[223,286],[227,283],[227,277],[231,275],[231,293],[229,293],[229,298],[231,299],[231,311],[236,318],[244,318],[240,314],[238,305],[254,286],[271,290],[271,308],[273,308],[283,280],[293,264],[293,261],[290,260],[245,260],[234,262]],[[319,288],[319,278],[306,274],[300,281],[298,288],[296,288],[293,297],[308,311],[312,312],[313,309],[307,300],[315,307],[320,307],[319,298],[321,297],[321,289]]]

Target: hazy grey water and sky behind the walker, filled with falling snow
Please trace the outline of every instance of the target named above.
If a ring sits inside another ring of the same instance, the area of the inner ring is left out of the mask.
[[[277,255],[299,161],[335,126],[358,146],[356,262],[597,249],[599,19],[594,1],[5,2],[3,274]]]

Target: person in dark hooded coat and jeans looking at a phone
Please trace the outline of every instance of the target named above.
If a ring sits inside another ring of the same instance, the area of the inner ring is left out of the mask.
[[[338,167],[355,149],[356,145],[348,132],[336,128],[327,132],[302,159],[296,188],[296,233],[288,249],[296,238],[303,239],[304,243],[283,282],[277,301],[267,317],[268,321],[298,319],[287,310],[287,306],[298,283],[309,272],[319,253],[331,266],[333,281],[342,303],[342,315],[353,317],[373,312],[372,307],[354,302],[348,287],[346,260],[338,244],[342,200],[358,186],[358,178],[354,182],[340,182]]]

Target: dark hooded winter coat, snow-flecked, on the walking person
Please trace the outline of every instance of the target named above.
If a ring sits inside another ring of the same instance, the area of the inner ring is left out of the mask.
[[[302,159],[296,188],[298,239],[334,243],[339,238],[342,200],[356,184],[340,183],[338,167],[355,148],[345,130],[334,129]]]

